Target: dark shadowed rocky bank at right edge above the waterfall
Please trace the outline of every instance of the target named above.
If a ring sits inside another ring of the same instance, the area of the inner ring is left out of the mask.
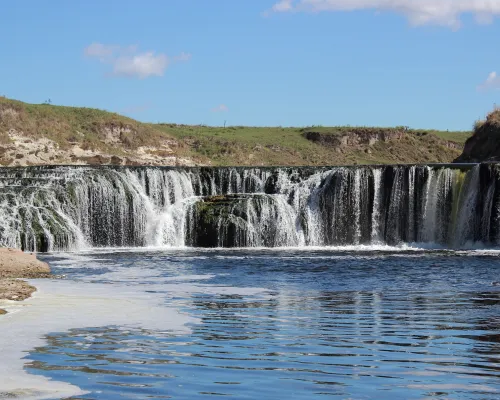
[[[500,161],[500,110],[490,113],[476,124],[474,135],[467,142],[456,163]]]

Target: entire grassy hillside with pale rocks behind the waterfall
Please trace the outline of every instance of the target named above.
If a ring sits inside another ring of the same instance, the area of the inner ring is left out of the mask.
[[[147,124],[92,108],[0,98],[0,163],[340,165],[450,162],[471,132],[406,127]]]

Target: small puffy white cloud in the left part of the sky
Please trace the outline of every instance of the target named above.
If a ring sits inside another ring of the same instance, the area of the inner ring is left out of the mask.
[[[138,52],[137,46],[115,46],[92,43],[85,48],[86,57],[96,58],[101,63],[112,66],[112,75],[144,79],[150,76],[163,76],[171,62],[189,61],[191,55],[181,53],[169,58],[166,54],[153,51]]]

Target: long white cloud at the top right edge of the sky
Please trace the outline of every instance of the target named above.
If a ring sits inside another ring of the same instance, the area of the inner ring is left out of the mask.
[[[280,0],[274,12],[389,11],[402,14],[415,26],[434,24],[458,29],[463,14],[476,22],[490,23],[500,16],[500,0]]]

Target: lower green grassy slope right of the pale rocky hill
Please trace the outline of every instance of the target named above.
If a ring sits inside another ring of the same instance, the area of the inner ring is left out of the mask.
[[[186,143],[193,157],[213,165],[335,165],[449,162],[460,154],[471,132],[369,127],[207,127],[158,124],[155,127]],[[364,132],[404,132],[401,140],[371,146],[326,147],[308,132],[342,136]],[[449,143],[453,142],[453,143]]]

